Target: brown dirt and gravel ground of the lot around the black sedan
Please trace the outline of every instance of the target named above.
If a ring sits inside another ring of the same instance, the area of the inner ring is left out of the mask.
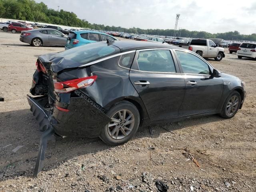
[[[48,142],[44,169],[34,178],[40,133],[26,94],[36,58],[64,48],[35,48],[19,35],[0,32],[1,192],[147,192],[158,191],[156,180],[170,192],[256,191],[256,61],[238,60],[227,49],[221,62],[208,62],[246,82],[247,97],[234,118],[212,115],[152,126],[152,134],[141,128],[117,147],[98,138]],[[12,152],[17,146],[22,147]]]

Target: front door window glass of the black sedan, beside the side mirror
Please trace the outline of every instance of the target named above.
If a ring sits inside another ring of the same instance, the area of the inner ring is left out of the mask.
[[[189,74],[210,74],[209,66],[197,56],[184,51],[175,51],[184,73]]]

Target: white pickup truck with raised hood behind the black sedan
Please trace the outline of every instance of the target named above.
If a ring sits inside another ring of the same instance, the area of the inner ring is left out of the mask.
[[[203,58],[214,58],[216,61],[222,60],[225,57],[224,48],[218,45],[223,39],[193,39],[190,45],[175,45],[190,51],[196,52]]]

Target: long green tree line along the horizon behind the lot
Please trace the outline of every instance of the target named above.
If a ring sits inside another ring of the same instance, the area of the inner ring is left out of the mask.
[[[150,34],[160,36],[173,36],[173,29],[140,29],[123,28],[116,26],[104,26],[101,24],[90,24],[85,19],[77,18],[73,12],[54,10],[47,7],[43,2],[36,3],[34,0],[0,0],[0,18],[28,20],[64,26],[91,28],[95,30],[106,30],[115,32],[126,32],[134,34]],[[256,33],[250,35],[240,34],[238,31],[211,34],[204,31],[189,31],[186,29],[176,31],[176,36],[191,38],[222,38],[225,40],[249,40],[256,41]]]

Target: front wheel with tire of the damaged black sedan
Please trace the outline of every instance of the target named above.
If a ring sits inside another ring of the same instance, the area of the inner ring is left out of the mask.
[[[237,104],[236,104],[237,103]],[[235,116],[241,104],[241,96],[237,91],[233,91],[226,99],[220,116],[222,118],[230,119]]]

